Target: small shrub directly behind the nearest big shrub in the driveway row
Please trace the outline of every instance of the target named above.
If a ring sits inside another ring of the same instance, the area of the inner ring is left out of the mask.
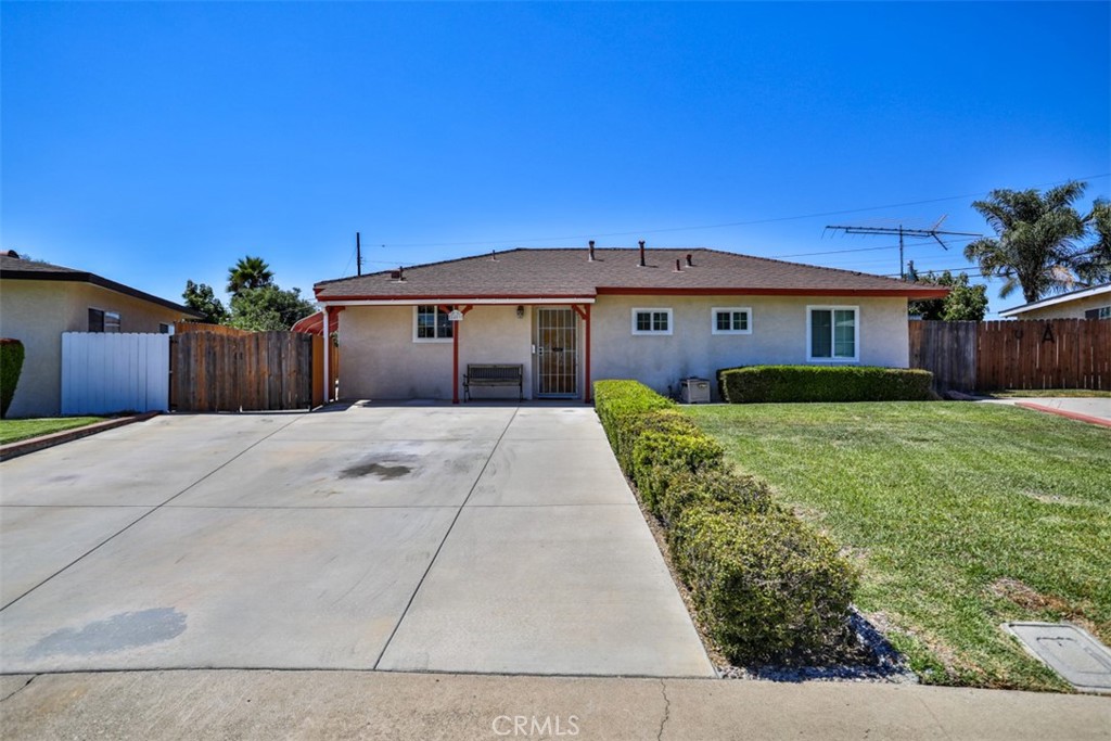
[[[657,501],[657,517],[668,527],[693,508],[719,512],[767,513],[779,507],[762,480],[725,469],[672,473]]]

